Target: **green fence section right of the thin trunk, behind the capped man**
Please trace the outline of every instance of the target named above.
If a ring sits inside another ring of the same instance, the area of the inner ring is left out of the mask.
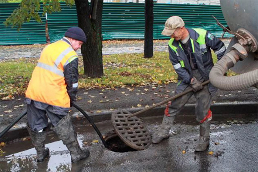
[[[212,15],[215,16],[223,25],[226,25],[221,8],[218,5],[155,4],[155,39],[167,38],[167,36],[161,35],[161,32],[164,29],[164,23],[166,20],[173,15],[180,16],[184,20],[185,26],[188,28],[203,28],[218,37],[221,37],[223,31],[216,24],[216,21],[213,19]],[[225,34],[225,37],[229,37],[229,34]]]

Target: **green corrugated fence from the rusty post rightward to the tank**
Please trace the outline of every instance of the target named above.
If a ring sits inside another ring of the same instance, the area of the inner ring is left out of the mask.
[[[62,12],[49,14],[49,31],[51,42],[63,37],[71,26],[77,26],[76,8],[61,4]],[[212,15],[226,25],[218,5],[181,5],[154,4],[154,39],[168,39],[161,35],[166,20],[178,15],[188,28],[203,28],[221,37],[222,29],[216,24]],[[68,21],[69,20],[69,21]],[[104,3],[102,14],[103,40],[107,39],[144,39],[144,4],[142,3]],[[224,37],[230,37],[225,34]]]

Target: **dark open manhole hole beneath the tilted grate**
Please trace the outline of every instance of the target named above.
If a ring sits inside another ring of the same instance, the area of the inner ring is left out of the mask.
[[[131,148],[127,144],[125,144],[120,137],[118,137],[115,130],[112,130],[106,134],[104,134],[105,141],[107,143],[107,149],[113,152],[133,152],[137,151],[136,149]]]

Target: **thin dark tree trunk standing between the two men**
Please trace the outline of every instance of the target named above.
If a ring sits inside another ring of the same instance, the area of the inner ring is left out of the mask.
[[[144,58],[151,58],[153,57],[153,0],[145,0],[144,8]]]

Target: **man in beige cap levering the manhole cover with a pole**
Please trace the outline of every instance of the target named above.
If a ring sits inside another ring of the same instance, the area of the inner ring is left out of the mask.
[[[201,152],[209,147],[210,125],[212,113],[210,106],[212,96],[217,91],[211,83],[202,86],[202,82],[209,80],[209,72],[214,66],[211,49],[222,58],[226,51],[224,43],[204,29],[185,28],[184,21],[178,16],[170,17],[165,23],[162,35],[170,36],[168,42],[169,59],[178,74],[178,83],[175,94],[182,93],[186,89],[193,91],[173,100],[167,105],[161,130],[154,133],[153,143],[160,143],[167,139],[169,130],[175,116],[180,113],[188,99],[196,97],[195,114],[200,123],[200,136],[195,151]]]

